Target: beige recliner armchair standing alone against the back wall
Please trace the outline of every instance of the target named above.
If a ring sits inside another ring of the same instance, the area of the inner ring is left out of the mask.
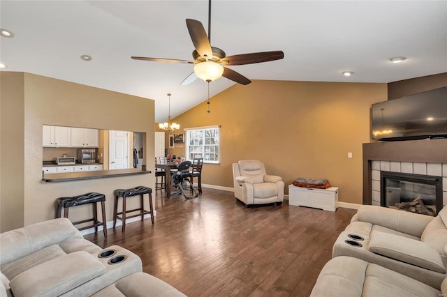
[[[235,197],[246,206],[252,204],[281,204],[284,181],[281,176],[267,175],[263,162],[241,160],[233,163]]]

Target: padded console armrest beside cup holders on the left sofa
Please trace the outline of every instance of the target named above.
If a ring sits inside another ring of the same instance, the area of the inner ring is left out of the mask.
[[[14,296],[59,296],[107,272],[88,252],[79,251],[34,266],[10,280]]]

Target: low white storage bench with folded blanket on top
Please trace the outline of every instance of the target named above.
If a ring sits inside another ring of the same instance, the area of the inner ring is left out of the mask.
[[[338,207],[338,188],[314,189],[289,185],[288,204],[335,211]]]

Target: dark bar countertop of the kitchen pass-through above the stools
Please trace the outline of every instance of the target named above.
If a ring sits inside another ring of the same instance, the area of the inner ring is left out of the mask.
[[[42,174],[42,181],[45,183],[54,183],[59,181],[80,181],[94,178],[108,178],[119,176],[130,176],[139,174],[150,174],[151,171],[141,169],[115,169],[115,170],[96,170],[91,172],[67,172],[57,174]]]

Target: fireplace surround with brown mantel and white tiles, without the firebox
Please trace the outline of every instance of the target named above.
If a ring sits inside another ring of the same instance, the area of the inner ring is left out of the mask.
[[[380,206],[380,172],[442,176],[447,204],[447,139],[363,144],[363,204]]]

